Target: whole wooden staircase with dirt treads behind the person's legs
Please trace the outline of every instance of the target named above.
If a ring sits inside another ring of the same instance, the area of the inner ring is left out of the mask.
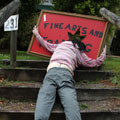
[[[9,60],[1,61],[9,65]],[[18,68],[1,68],[0,120],[33,120],[39,88],[48,61],[17,61]],[[82,120],[119,120],[120,88],[110,82],[113,73],[97,69],[77,69],[74,79]],[[57,96],[50,120],[65,120]]]

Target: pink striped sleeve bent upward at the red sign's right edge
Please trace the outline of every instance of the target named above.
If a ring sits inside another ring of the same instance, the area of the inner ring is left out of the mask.
[[[89,58],[85,53],[81,53],[79,56],[79,64],[82,64],[85,67],[99,67],[104,63],[105,58],[106,47],[104,48],[101,55],[96,59]]]

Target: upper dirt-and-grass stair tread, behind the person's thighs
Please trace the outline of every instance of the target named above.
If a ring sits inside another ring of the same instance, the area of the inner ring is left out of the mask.
[[[26,81],[6,81],[1,82],[0,87],[31,87],[39,88],[42,82],[26,82]],[[75,84],[77,89],[105,89],[105,88],[120,88],[118,85],[114,85],[110,80],[99,81],[82,81]]]

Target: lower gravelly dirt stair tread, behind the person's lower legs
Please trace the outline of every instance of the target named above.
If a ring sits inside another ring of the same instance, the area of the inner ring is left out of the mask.
[[[15,101],[0,100],[0,112],[33,112],[35,110],[35,102],[31,101]],[[111,98],[99,101],[81,101],[79,102],[81,112],[115,112],[120,111],[120,98]],[[63,111],[62,105],[55,103],[53,112]]]

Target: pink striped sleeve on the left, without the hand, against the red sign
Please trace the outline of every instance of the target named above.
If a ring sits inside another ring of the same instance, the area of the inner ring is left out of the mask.
[[[58,46],[58,44],[48,43],[39,34],[36,35],[36,39],[44,48],[46,48],[48,51],[52,53],[54,52],[55,48]]]

